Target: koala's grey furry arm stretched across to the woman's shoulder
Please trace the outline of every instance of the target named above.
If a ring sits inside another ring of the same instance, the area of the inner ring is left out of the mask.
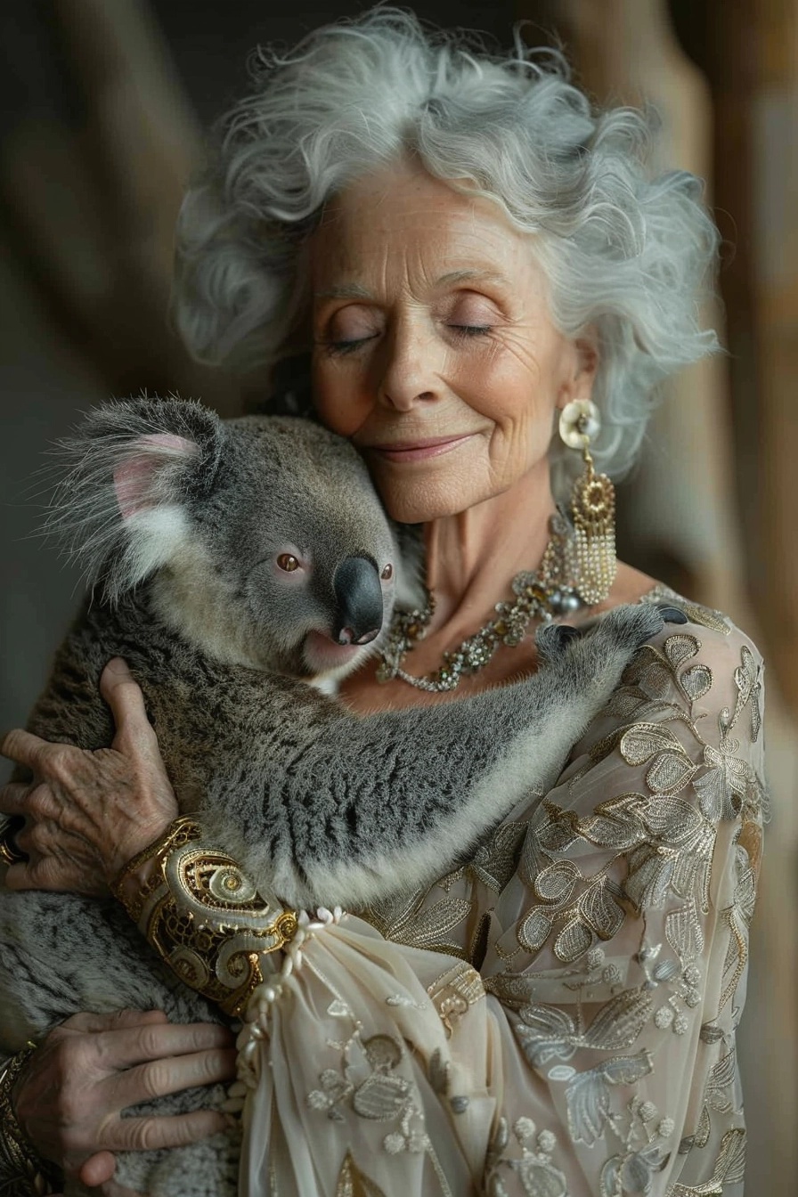
[[[237,745],[238,762],[249,762],[233,784],[212,784],[203,824],[292,906],[360,905],[419,885],[550,788],[662,626],[657,608],[639,604],[569,643],[544,628],[536,675],[461,703],[365,718],[329,704],[284,739],[273,729]]]

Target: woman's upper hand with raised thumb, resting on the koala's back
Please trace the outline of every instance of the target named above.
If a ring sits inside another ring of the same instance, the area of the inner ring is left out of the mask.
[[[29,857],[8,868],[8,889],[105,893],[178,813],[144,697],[121,658],[105,667],[99,688],[116,724],[110,748],[87,752],[20,730],[0,745],[33,774],[0,790],[0,810],[25,819],[16,841]]]

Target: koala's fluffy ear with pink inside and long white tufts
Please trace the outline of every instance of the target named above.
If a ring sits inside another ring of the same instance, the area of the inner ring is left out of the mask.
[[[188,508],[213,487],[224,436],[219,417],[200,403],[140,399],[96,408],[60,442],[56,455],[68,473],[45,530],[66,542],[108,601],[184,543]]]

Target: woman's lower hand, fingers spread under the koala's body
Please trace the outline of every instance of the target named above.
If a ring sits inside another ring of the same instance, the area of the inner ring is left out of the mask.
[[[233,1038],[212,1023],[178,1026],[157,1010],[75,1014],[33,1052],[14,1112],[37,1153],[83,1184],[121,1197],[115,1152],[182,1147],[225,1130],[212,1110],[122,1118],[122,1111],[236,1075]]]

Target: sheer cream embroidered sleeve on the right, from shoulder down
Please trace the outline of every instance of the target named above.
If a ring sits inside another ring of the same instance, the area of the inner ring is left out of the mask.
[[[506,1065],[492,1197],[742,1192],[761,662],[725,620],[689,613],[577,746],[492,913],[482,974]]]

